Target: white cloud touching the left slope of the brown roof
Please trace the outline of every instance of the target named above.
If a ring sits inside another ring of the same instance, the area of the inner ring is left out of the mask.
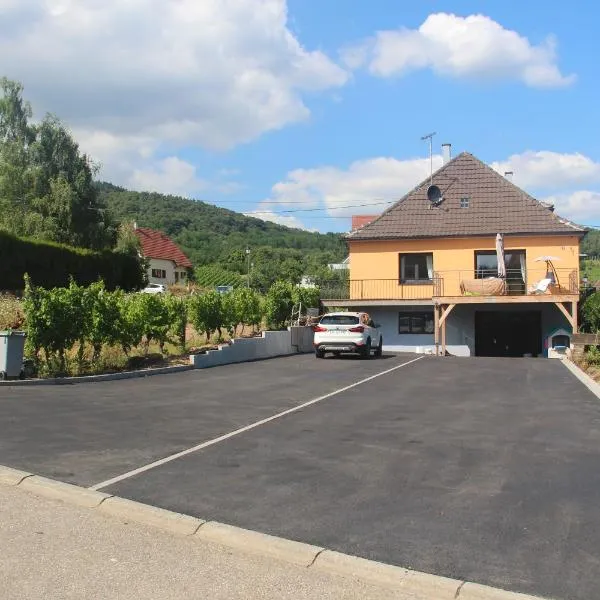
[[[441,165],[442,157],[434,156],[434,169]],[[429,172],[428,158],[387,157],[359,160],[347,169],[297,169],[288,173],[285,181],[273,186],[271,197],[262,205],[271,209],[324,207],[329,215],[336,217],[378,214],[390,201],[398,200],[425,179]]]

